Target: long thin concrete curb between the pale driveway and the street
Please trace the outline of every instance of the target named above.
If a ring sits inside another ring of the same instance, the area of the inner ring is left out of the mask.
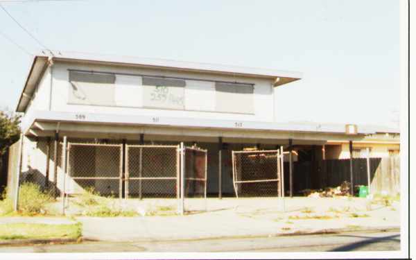
[[[295,232],[286,232],[286,233],[275,233],[275,234],[254,234],[254,235],[239,235],[239,236],[207,236],[200,238],[189,238],[189,239],[135,239],[132,241],[125,242],[186,242],[186,241],[205,241],[205,240],[216,240],[216,239],[256,239],[256,238],[266,238],[266,237],[278,237],[278,236],[308,236],[308,235],[318,235],[318,234],[342,234],[342,233],[351,233],[351,232],[400,232],[400,227],[397,226],[387,226],[387,227],[367,227],[367,228],[333,228],[333,229],[320,229],[314,231],[295,231]],[[101,241],[101,242],[111,242],[111,240],[101,240],[96,237],[84,236],[83,241]]]

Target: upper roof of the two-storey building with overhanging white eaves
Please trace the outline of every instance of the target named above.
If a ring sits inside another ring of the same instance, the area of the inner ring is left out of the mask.
[[[70,51],[42,51],[33,58],[31,70],[26,78],[26,83],[21,91],[16,112],[24,112],[33,95],[35,87],[42,78],[48,60],[63,62],[87,62],[92,64],[117,64],[133,67],[147,67],[153,69],[172,69],[176,71],[195,71],[200,73],[216,73],[232,76],[249,76],[253,78],[270,78],[275,80],[275,86],[291,83],[302,78],[302,73],[296,71],[280,71],[275,69],[261,69],[253,67],[240,67],[224,64],[210,64],[200,62],[185,62],[179,60],[164,60],[155,58],[139,58],[123,55],[103,55],[94,53],[70,52]]]

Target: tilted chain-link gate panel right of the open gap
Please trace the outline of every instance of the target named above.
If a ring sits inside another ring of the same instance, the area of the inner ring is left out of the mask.
[[[236,197],[281,196],[279,150],[232,151]]]

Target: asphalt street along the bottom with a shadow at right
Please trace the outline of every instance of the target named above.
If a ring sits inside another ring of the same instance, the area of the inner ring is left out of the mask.
[[[347,252],[400,250],[399,232],[354,232],[193,241],[3,246],[0,252]]]

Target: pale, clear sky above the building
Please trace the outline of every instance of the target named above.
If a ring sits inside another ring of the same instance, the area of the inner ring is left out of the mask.
[[[396,126],[399,1],[4,1],[53,50],[300,71],[277,121]],[[0,107],[15,110],[43,49],[0,9]]]

